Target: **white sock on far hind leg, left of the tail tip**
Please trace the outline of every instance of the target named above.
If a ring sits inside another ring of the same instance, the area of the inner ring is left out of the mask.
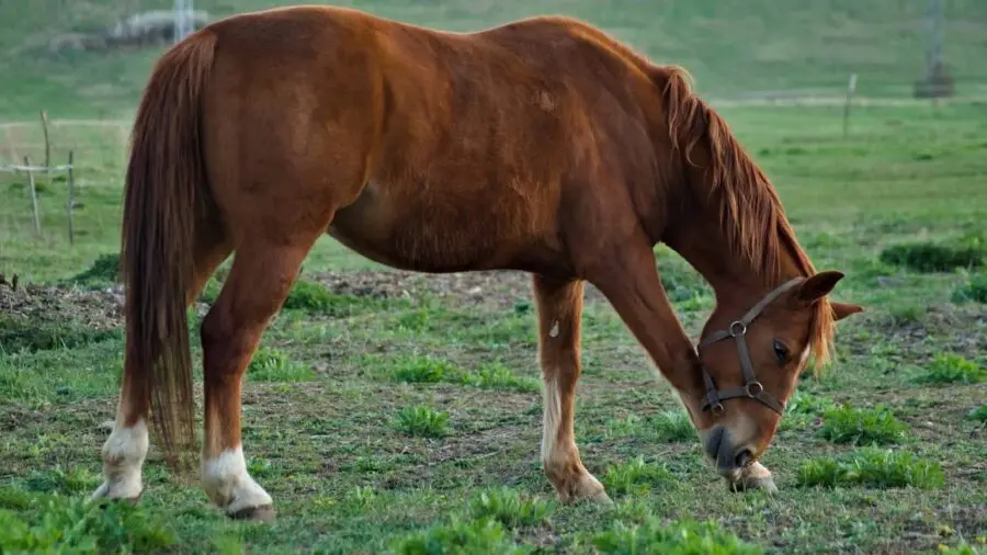
[[[103,474],[106,479],[92,494],[92,499],[131,499],[139,496],[144,487],[141,467],[147,456],[147,424],[144,419],[131,428],[124,428],[117,420],[113,432],[103,443]]]

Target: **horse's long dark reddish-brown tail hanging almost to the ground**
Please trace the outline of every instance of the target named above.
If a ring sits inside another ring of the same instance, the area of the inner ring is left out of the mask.
[[[180,455],[195,442],[186,309],[195,225],[209,194],[200,124],[214,49],[215,35],[201,31],[156,64],[134,122],[124,189],[124,380],[135,381],[138,403],[150,408],[169,466],[179,472]]]

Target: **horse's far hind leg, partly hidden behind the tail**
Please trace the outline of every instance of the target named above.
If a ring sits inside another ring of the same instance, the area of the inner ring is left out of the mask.
[[[207,228],[196,238],[194,283],[188,292],[188,303],[198,296],[216,267],[229,256],[230,246],[220,229]],[[129,499],[136,501],[144,489],[141,468],[148,450],[147,417],[149,399],[146,384],[135,378],[139,373],[124,360],[123,383],[116,407],[113,431],[103,443],[103,484],[93,499]]]

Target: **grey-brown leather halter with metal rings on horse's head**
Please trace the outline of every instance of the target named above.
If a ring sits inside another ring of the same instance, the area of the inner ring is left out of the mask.
[[[719,416],[723,414],[723,404],[721,401],[725,399],[749,397],[760,401],[779,415],[784,414],[785,405],[779,401],[773,395],[765,392],[764,386],[758,382],[758,377],[753,373],[753,365],[750,362],[750,351],[747,348],[745,336],[747,336],[748,326],[764,312],[764,308],[767,308],[768,305],[773,303],[783,293],[797,285],[802,280],[802,278],[795,278],[779,285],[772,292],[764,295],[764,298],[751,307],[751,309],[739,320],[730,324],[727,329],[714,331],[700,342],[699,347],[696,347],[696,354],[700,354],[703,348],[710,347],[717,341],[734,338],[737,342],[737,354],[740,359],[740,372],[744,373],[742,386],[717,390],[716,384],[713,382],[713,376],[710,375],[706,365],[700,362],[700,365],[703,369],[703,382],[706,384],[706,396],[703,398],[703,410],[712,410],[713,415]]]

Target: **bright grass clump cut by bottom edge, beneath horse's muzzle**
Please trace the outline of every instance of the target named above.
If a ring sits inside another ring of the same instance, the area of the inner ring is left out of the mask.
[[[662,523],[649,516],[638,525],[615,522],[610,530],[592,537],[592,545],[603,555],[629,553],[681,553],[710,555],[755,555],[760,546],[742,542],[714,521],[679,521]]]

